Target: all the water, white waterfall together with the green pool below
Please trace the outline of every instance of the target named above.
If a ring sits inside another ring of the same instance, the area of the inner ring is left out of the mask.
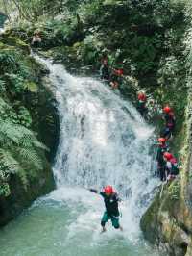
[[[1,256],[159,256],[142,238],[139,220],[158,179],[151,156],[153,126],[107,85],[74,77],[61,64],[50,69],[60,114],[54,164],[57,190],[0,231]],[[112,185],[123,199],[123,232],[108,222],[100,234],[104,202],[85,188]]]

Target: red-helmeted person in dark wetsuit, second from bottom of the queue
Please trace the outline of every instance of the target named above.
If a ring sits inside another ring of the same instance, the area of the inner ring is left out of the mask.
[[[156,154],[156,162],[157,162],[157,170],[158,176],[160,177],[161,181],[166,180],[165,175],[165,165],[166,162],[164,161],[163,154],[168,151],[168,146],[166,144],[165,138],[158,138],[158,149]]]

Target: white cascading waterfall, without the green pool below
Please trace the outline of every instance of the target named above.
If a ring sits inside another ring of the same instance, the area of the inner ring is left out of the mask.
[[[137,233],[157,182],[149,154],[154,128],[108,86],[71,76],[61,64],[40,61],[50,70],[60,113],[54,166],[58,187],[101,190],[108,184],[114,186],[125,201],[123,221],[129,233]]]

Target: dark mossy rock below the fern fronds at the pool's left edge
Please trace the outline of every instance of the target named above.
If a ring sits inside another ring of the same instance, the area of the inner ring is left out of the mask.
[[[12,175],[9,181],[11,194],[8,197],[0,196],[0,226],[4,226],[12,218],[18,216],[37,197],[47,194],[55,188],[51,166],[46,160],[44,163],[44,169],[37,171],[36,175],[29,175],[29,183],[25,188],[20,177]]]

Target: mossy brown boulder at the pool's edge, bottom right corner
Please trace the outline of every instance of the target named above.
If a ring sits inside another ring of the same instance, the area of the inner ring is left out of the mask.
[[[178,179],[163,192],[159,190],[140,222],[145,238],[154,244],[163,243],[174,256],[186,255],[192,239],[192,212],[182,197],[180,184]]]

